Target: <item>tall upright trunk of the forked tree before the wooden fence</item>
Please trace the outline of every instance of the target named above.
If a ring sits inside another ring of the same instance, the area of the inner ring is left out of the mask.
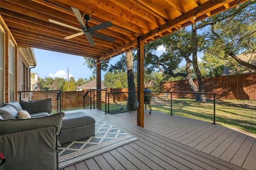
[[[200,72],[200,69],[197,63],[198,41],[197,41],[197,34],[196,34],[196,23],[192,24],[191,36],[192,36],[192,63],[197,76],[199,92],[204,92],[204,82],[202,80],[202,74]],[[206,102],[206,98],[204,94],[196,96],[196,100],[198,100],[197,97],[200,97],[201,102]]]

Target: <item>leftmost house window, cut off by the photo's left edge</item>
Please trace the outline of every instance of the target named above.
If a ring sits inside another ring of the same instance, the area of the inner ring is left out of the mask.
[[[0,106],[4,104],[4,29],[0,25]]]

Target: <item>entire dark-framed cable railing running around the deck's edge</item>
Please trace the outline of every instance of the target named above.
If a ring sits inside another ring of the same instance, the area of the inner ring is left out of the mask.
[[[64,109],[84,107],[100,109],[108,114],[136,111],[137,92],[109,92],[110,90],[87,90],[86,92],[20,91],[21,100],[42,100],[52,98],[52,108],[57,112]],[[63,94],[62,94],[63,93]],[[66,94],[67,93],[67,94]],[[64,96],[66,96],[64,98]],[[64,98],[64,99],[63,99]],[[216,93],[152,91],[151,107],[144,103],[144,113],[159,111],[204,119],[215,123]]]

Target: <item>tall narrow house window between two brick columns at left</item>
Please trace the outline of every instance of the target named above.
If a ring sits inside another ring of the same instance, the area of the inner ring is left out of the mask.
[[[14,74],[14,68],[15,68],[15,62],[14,62],[14,44],[10,41],[9,43],[10,49],[10,55],[9,55],[9,78],[10,78],[10,94],[9,94],[9,102],[12,102],[14,100],[15,95],[15,74]]]

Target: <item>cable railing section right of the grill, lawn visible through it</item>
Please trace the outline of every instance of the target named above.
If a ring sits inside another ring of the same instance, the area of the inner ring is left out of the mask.
[[[216,123],[216,93],[152,92],[152,109]]]

